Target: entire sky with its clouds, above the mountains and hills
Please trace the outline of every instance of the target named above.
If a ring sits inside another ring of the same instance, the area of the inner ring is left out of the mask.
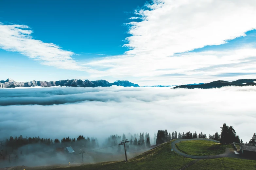
[[[254,78],[256,4],[226,3],[1,1],[0,79],[176,85]]]

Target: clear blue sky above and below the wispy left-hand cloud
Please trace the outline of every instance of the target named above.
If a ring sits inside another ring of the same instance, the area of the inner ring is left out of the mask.
[[[145,0],[130,1],[1,1],[0,22],[28,25],[32,36],[77,55],[77,61],[123,54],[128,18]],[[105,55],[94,55],[105,54]],[[43,66],[17,52],[0,50],[0,79],[16,81],[74,79],[85,72]],[[86,77],[86,76],[85,76]]]

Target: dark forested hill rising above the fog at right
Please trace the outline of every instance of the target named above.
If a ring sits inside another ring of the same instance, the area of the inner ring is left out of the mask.
[[[186,89],[212,89],[212,88],[221,88],[225,86],[255,86],[256,85],[256,79],[240,79],[236,81],[213,81],[211,83],[205,83],[205,84],[197,84],[197,85],[181,85],[176,86],[173,89],[177,88],[186,88]]]

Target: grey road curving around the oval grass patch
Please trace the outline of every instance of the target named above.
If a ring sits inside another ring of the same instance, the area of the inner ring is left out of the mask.
[[[197,138],[197,139],[177,139],[177,140],[172,142],[171,147],[172,147],[172,149],[176,153],[178,153],[181,156],[184,156],[184,157],[187,157],[187,158],[193,158],[193,159],[214,159],[214,158],[223,158],[223,157],[240,158],[241,159],[241,157],[238,154],[234,153],[234,149],[231,149],[231,148],[227,148],[225,153],[222,153],[222,154],[219,154],[219,155],[196,156],[196,155],[185,154],[185,153],[179,151],[176,148],[175,144],[180,142],[180,141],[186,141],[186,140],[209,140],[209,141],[213,141],[213,142],[219,143],[219,141],[213,140],[213,139],[202,139],[202,138]]]

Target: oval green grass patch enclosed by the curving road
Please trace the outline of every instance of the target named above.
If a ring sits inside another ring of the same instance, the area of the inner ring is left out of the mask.
[[[218,155],[225,152],[231,145],[221,145],[219,143],[207,140],[189,140],[181,141],[176,144],[177,149],[188,155]]]

